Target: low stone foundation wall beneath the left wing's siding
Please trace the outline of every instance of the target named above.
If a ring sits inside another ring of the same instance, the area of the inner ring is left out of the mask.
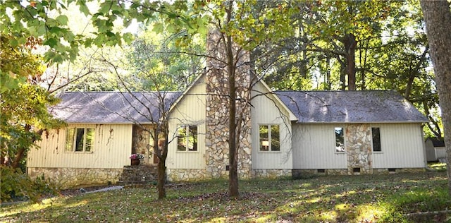
[[[27,171],[31,178],[44,174],[46,179],[51,179],[62,189],[66,189],[80,185],[116,183],[123,169],[30,167]]]

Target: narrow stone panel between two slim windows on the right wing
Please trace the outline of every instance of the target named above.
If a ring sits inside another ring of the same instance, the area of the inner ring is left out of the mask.
[[[350,124],[346,127],[346,152],[348,174],[373,174],[369,124]]]

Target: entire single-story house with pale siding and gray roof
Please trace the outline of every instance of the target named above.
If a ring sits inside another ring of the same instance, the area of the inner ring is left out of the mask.
[[[228,109],[218,86],[227,78],[211,73],[185,92],[61,93],[51,112],[68,126],[43,133],[39,149],[27,157],[28,174],[66,186],[114,183],[131,153],[144,154],[144,164],[158,162],[151,135],[164,99],[168,180],[226,177]],[[242,179],[426,167],[422,123],[428,119],[395,91],[272,91],[256,80],[248,93],[237,93],[252,98],[237,100],[244,103],[237,104]]]

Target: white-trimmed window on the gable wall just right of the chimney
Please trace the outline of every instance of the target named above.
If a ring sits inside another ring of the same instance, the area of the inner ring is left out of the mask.
[[[260,151],[280,151],[280,126],[260,125]]]

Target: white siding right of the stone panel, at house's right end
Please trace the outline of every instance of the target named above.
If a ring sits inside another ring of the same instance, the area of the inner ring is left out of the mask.
[[[371,125],[373,126],[373,125]],[[373,152],[373,168],[424,168],[426,155],[419,123],[381,123],[381,152]]]

